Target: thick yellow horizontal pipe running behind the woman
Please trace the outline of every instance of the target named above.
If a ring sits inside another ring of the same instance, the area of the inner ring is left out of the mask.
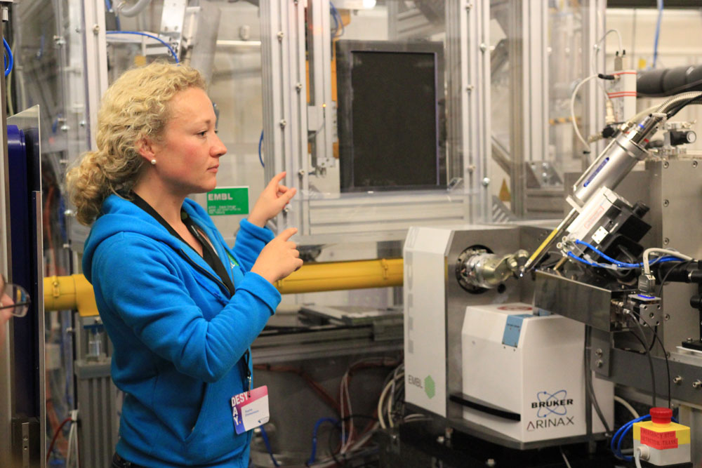
[[[281,294],[402,286],[402,258],[352,262],[308,263],[275,282]],[[44,278],[44,309],[78,309],[81,316],[98,315],[93,286],[82,274]]]

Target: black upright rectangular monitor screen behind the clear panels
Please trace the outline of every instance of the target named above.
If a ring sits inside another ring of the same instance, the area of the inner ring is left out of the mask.
[[[352,46],[347,60],[338,58],[342,192],[446,186],[439,145],[441,46],[419,46],[427,50]]]

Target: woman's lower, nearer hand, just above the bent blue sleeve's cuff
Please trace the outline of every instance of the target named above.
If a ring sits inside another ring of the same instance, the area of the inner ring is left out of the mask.
[[[298,232],[296,227],[289,227],[267,243],[258,254],[251,271],[260,274],[270,283],[275,283],[302,267],[300,252],[296,244],[289,240],[296,232]]]

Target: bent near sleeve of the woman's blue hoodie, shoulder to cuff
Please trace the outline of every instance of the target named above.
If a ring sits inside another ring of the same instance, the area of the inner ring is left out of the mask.
[[[166,254],[150,239],[128,234],[95,250],[93,286],[109,313],[147,347],[206,382],[216,382],[237,363],[281,299],[263,277],[246,274],[230,302],[208,321]]]

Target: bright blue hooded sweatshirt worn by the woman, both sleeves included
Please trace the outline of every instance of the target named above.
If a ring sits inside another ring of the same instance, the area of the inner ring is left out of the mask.
[[[187,243],[119,196],[105,200],[86,240],[84,274],[124,391],[117,453],[145,467],[237,467],[251,434],[234,431],[230,400],[251,368],[242,356],[281,299],[249,270],[273,233],[242,220],[232,250],[197,203],[183,209],[225,260],[231,299]]]

